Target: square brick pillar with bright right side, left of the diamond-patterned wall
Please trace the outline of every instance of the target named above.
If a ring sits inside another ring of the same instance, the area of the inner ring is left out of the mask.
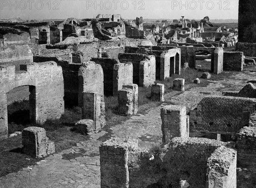
[[[162,142],[168,143],[174,137],[189,137],[187,131],[186,107],[166,105],[161,108]]]

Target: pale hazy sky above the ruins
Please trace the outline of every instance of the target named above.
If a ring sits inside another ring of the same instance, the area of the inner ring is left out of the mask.
[[[0,0],[0,19],[93,18],[121,14],[124,19],[238,19],[239,0]]]

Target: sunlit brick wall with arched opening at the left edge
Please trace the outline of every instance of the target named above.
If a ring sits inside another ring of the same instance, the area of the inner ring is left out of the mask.
[[[29,85],[30,121],[44,123],[64,113],[64,81],[61,67],[53,61],[0,67],[0,138],[8,136],[7,95],[15,87]]]

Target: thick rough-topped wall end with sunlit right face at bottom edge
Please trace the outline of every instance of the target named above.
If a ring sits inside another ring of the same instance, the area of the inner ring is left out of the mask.
[[[221,146],[207,160],[207,188],[236,188],[237,151]]]

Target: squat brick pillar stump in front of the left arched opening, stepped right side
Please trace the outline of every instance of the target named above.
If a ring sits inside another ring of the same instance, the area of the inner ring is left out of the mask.
[[[49,141],[46,131],[41,127],[27,127],[22,131],[23,153],[41,158],[55,152],[54,142]]]

